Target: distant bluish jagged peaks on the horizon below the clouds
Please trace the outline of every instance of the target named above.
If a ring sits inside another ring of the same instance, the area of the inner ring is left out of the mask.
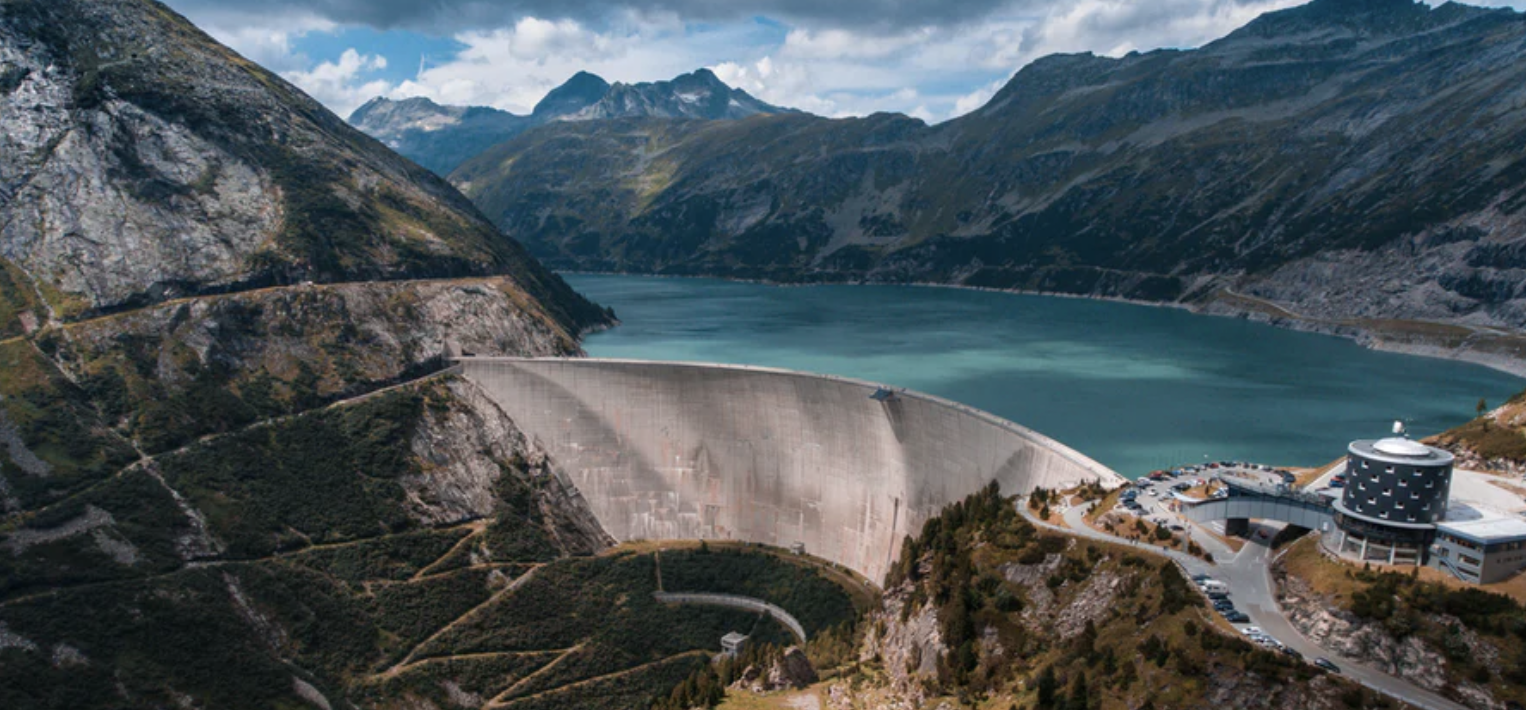
[[[479,105],[439,105],[426,98],[378,96],[356,108],[349,122],[444,176],[496,144],[555,121],[633,116],[717,121],[778,113],[794,111],[731,89],[711,70],[699,69],[671,81],[638,84],[610,84],[578,72],[540,99],[528,116]]]

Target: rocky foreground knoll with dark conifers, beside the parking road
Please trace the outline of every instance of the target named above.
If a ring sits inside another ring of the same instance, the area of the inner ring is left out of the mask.
[[[980,516],[964,504],[916,548]],[[830,684],[829,707],[1372,707],[1219,631],[1170,562],[1021,525],[987,527],[958,550],[934,547],[914,570],[902,560],[906,579],[887,588],[859,649],[874,672]]]

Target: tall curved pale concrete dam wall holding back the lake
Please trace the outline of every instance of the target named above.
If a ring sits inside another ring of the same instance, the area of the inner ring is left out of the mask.
[[[806,551],[876,583],[928,518],[1004,493],[1126,482],[1076,450],[938,397],[786,370],[464,357],[618,541]]]

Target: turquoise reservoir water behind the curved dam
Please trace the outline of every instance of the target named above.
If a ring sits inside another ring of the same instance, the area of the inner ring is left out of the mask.
[[[1483,366],[1103,301],[888,286],[568,275],[624,325],[595,357],[703,360],[920,389],[1135,476],[1210,460],[1314,466],[1395,418],[1430,435],[1526,388]]]

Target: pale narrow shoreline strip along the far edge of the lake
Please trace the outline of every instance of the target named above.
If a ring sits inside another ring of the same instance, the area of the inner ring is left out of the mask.
[[[1347,340],[1354,340],[1358,345],[1375,350],[1380,353],[1396,353],[1416,357],[1430,357],[1437,360],[1453,360],[1465,362],[1470,365],[1485,366],[1499,373],[1505,373],[1514,377],[1526,379],[1526,359],[1509,357],[1495,353],[1485,353],[1468,348],[1448,348],[1445,345],[1437,345],[1436,342],[1421,340],[1396,340],[1386,339],[1380,331],[1372,328],[1364,328],[1361,325],[1352,324],[1331,324],[1325,321],[1317,321],[1311,318],[1300,318],[1288,311],[1286,316],[1274,316],[1262,310],[1235,305],[1227,298],[1210,298],[1201,305],[1184,304],[1184,302],[1166,302],[1166,301],[1144,301],[1137,298],[1123,296],[1097,296],[1088,293],[1064,293],[1064,292],[1036,292],[1024,289],[992,289],[986,286],[963,286],[963,284],[943,284],[935,281],[909,281],[909,282],[874,282],[874,281],[819,281],[819,282],[800,282],[800,281],[772,281],[772,279],[754,279],[754,278],[734,278],[734,276],[703,276],[703,275],[665,275],[665,273],[641,273],[641,272],[597,272],[597,270],[557,270],[559,275],[572,276],[641,276],[641,278],[664,278],[664,279],[714,279],[728,281],[737,284],[757,284],[757,286],[772,286],[778,289],[806,289],[813,286],[906,286],[919,289],[952,289],[952,290],[969,290],[969,292],[986,292],[986,293],[1012,293],[1019,296],[1045,296],[1045,298],[1067,298],[1080,301],[1105,301],[1116,304],[1129,305],[1144,305],[1151,308],[1173,308],[1183,310],[1196,316],[1210,318],[1238,318],[1242,321],[1259,322],[1264,325],[1271,325],[1274,328],[1293,330],[1299,333],[1315,333],[1323,336],[1335,336]],[[1280,308],[1280,307],[1279,307]],[[1285,308],[1283,308],[1285,310]],[[1430,324],[1428,321],[1415,321],[1419,324]],[[618,324],[618,322],[617,322]],[[1434,324],[1445,325],[1445,324]],[[604,330],[604,328],[600,328]]]

